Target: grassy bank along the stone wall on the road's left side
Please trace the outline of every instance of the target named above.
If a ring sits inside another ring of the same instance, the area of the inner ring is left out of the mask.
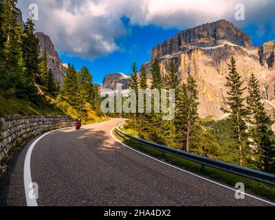
[[[47,94],[44,90],[43,100],[39,105],[33,104],[27,100],[21,100],[17,98],[4,98],[3,94],[0,93],[0,118],[4,115],[66,115],[70,120],[74,120],[78,117],[79,111],[74,108],[65,98],[62,96],[53,97]],[[95,124],[98,122],[103,122],[108,120],[106,115],[98,115],[98,113],[91,108],[91,104],[87,103],[85,105],[85,111],[83,111],[83,124]],[[0,133],[2,131],[2,126],[0,122]],[[8,161],[13,157],[14,153],[20,151],[25,143],[32,140],[33,137],[25,138],[20,144],[14,146],[8,152],[8,156],[0,160],[0,176],[7,168]],[[0,142],[1,142],[0,134]],[[2,167],[2,168],[1,168]]]

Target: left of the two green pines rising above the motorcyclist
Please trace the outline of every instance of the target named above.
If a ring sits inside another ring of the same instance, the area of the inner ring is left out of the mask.
[[[61,89],[61,94],[67,98],[69,104],[72,104],[74,107],[78,107],[77,92],[78,73],[76,72],[74,65],[69,64],[64,78],[63,88]]]

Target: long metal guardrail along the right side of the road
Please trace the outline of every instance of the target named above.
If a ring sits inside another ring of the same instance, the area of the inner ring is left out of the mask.
[[[265,184],[270,184],[275,186],[275,175],[270,173],[265,173],[259,170],[253,170],[251,168],[245,168],[244,166],[239,166],[235,164],[230,164],[227,162],[221,162],[217,159],[210,159],[208,157],[203,157],[199,155],[195,155],[192,153],[187,153],[184,151],[179,151],[174,148],[170,148],[168,146],[164,146],[161,144],[155,144],[153,142],[148,142],[146,140],[139,139],[137,137],[133,137],[132,135],[129,135],[127,133],[124,133],[123,131],[120,131],[119,127],[123,124],[120,123],[115,127],[115,131],[124,137],[128,137],[130,140],[133,140],[134,142],[144,144],[146,146],[155,148],[159,151],[162,151],[162,153],[168,153],[170,155],[176,155],[177,157],[181,157],[187,160],[190,160],[192,162],[196,162],[197,164],[202,165],[202,170],[204,169],[204,166],[210,166],[212,168],[216,168],[218,170],[223,170],[228,173],[233,173],[242,177],[247,177],[249,179],[254,179],[256,181],[261,181]]]

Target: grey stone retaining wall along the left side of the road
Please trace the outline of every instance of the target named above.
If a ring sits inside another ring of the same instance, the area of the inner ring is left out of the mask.
[[[74,122],[66,116],[9,115],[0,118],[0,162],[23,140],[68,126],[74,126]],[[0,173],[2,169],[0,163]]]

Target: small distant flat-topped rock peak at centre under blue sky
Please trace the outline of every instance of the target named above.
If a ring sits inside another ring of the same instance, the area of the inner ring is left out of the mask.
[[[100,90],[102,89],[116,90],[117,83],[122,84],[122,89],[127,89],[130,80],[131,80],[131,77],[126,76],[125,74],[108,74],[104,77],[103,85],[102,87],[100,87]]]

